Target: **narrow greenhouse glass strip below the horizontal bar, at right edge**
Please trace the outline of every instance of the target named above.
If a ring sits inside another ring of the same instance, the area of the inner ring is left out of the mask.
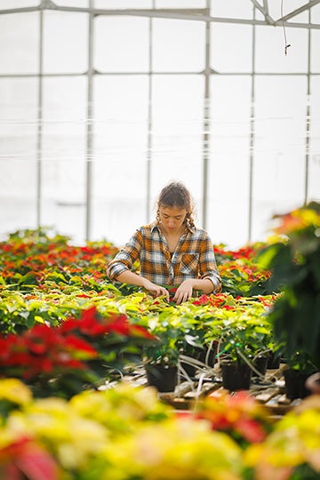
[[[308,201],[320,202],[320,77],[311,80],[310,158]]]

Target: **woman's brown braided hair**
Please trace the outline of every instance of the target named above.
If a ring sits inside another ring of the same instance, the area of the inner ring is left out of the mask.
[[[160,206],[184,208],[187,210],[186,223],[188,227],[195,228],[194,203],[188,188],[180,181],[172,181],[161,190],[156,203],[156,220],[158,221]]]

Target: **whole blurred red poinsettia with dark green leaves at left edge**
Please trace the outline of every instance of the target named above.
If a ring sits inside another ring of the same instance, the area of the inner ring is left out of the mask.
[[[20,335],[2,335],[0,375],[24,380],[36,396],[68,398],[140,361],[151,340],[151,333],[124,314],[105,318],[90,308],[57,327],[36,324]]]

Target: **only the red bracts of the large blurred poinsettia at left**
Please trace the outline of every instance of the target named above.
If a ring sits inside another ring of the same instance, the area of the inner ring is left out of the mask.
[[[69,318],[58,327],[36,324],[21,335],[0,336],[2,372],[5,376],[32,380],[88,369],[86,362],[99,359],[112,333],[131,340],[155,340],[140,325],[130,324],[127,316],[112,314],[100,318],[93,307],[84,310],[81,318]],[[115,340],[112,342],[110,348],[116,348]]]

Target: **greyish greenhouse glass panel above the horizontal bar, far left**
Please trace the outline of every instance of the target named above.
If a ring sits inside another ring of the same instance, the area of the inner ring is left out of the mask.
[[[0,74],[39,69],[39,13],[0,15]]]

